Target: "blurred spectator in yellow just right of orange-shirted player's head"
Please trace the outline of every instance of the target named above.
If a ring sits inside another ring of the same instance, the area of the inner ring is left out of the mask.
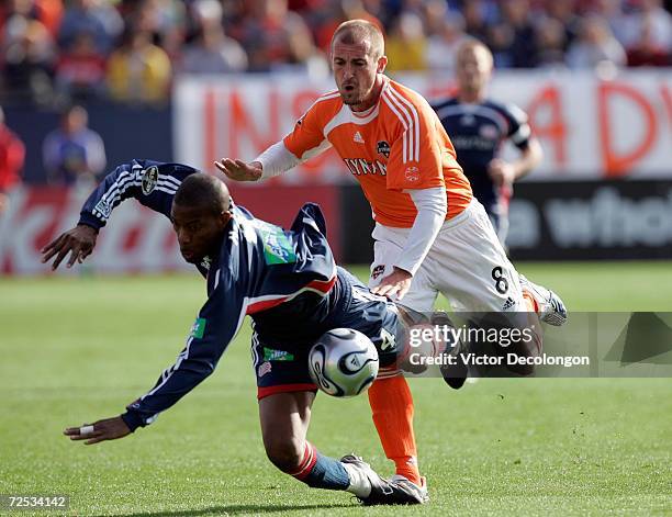
[[[425,70],[427,37],[423,21],[413,12],[403,12],[385,37],[389,71]]]

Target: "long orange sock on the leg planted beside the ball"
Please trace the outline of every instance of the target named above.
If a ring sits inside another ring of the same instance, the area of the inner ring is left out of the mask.
[[[413,396],[403,375],[378,379],[369,387],[369,404],[385,456],[396,473],[421,483],[417,447],[413,431]]]

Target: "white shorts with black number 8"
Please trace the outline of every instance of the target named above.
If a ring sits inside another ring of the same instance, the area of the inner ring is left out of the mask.
[[[369,288],[392,271],[410,231],[376,224]],[[432,311],[438,293],[453,311],[526,311],[518,272],[477,200],[444,223],[401,303],[415,311]]]

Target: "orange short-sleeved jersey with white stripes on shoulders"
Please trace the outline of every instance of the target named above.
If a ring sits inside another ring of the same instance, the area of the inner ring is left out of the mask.
[[[461,213],[472,198],[432,106],[419,93],[387,78],[378,103],[366,112],[351,111],[337,91],[322,95],[283,143],[299,159],[331,144],[360,182],[374,220],[387,226],[413,226],[417,210],[404,190],[445,187],[446,218]]]

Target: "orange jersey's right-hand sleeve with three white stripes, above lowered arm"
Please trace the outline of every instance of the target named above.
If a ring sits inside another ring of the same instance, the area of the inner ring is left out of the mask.
[[[430,189],[444,187],[444,160],[440,122],[429,108],[421,102],[390,97],[389,106],[400,124],[399,136],[391,143],[388,159],[387,187],[389,190]]]

